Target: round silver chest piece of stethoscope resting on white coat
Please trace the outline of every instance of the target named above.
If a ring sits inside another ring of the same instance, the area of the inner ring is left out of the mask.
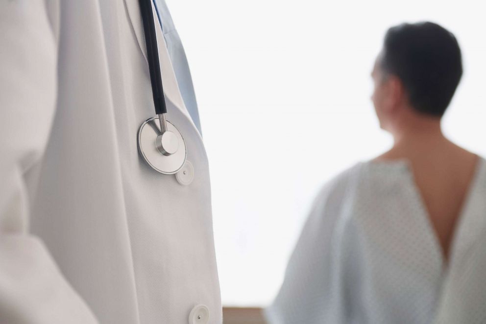
[[[161,134],[157,116],[147,119],[138,131],[138,148],[144,160],[155,171],[177,173],[186,162],[187,147],[179,130],[167,121],[167,130]]]

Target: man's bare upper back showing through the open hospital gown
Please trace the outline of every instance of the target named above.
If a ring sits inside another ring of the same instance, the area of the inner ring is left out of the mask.
[[[392,149],[376,161],[397,159],[410,162],[415,185],[447,260],[479,158],[444,140],[412,154],[406,149]]]

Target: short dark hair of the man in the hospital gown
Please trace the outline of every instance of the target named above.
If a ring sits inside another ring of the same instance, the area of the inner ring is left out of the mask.
[[[381,67],[402,81],[416,111],[442,116],[461,80],[461,49],[436,23],[403,23],[387,31]]]

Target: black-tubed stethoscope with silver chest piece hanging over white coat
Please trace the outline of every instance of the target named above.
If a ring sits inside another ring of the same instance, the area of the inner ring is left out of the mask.
[[[187,182],[187,172],[194,173],[194,169],[189,162],[186,163],[187,146],[181,132],[166,119],[167,107],[162,87],[152,0],[139,0],[139,4],[144,24],[148,68],[156,115],[144,121],[139,128],[137,139],[139,151],[147,164],[155,171],[163,174],[176,174],[179,183],[181,183],[179,178],[183,182],[184,180]],[[183,167],[185,170],[181,170]],[[183,173],[177,175],[179,171]]]

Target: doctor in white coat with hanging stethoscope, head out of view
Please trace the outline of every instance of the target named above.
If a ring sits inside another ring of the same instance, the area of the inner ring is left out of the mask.
[[[221,323],[190,73],[148,1],[167,109],[152,129],[167,116],[186,152],[172,174],[139,152],[157,96],[139,1],[0,2],[2,324]]]

